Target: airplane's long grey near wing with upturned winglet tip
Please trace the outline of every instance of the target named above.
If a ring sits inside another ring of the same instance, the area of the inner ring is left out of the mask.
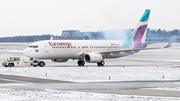
[[[124,49],[124,50],[115,50],[115,51],[104,51],[104,52],[99,52],[100,54],[110,54],[110,53],[117,53],[117,52],[132,52],[132,51],[140,51],[140,50],[150,50],[150,49],[162,49],[162,48],[169,48],[171,47],[171,44],[174,40],[174,37],[170,40],[170,42],[167,44],[167,46],[164,47],[157,47],[157,48],[142,48],[142,49]]]

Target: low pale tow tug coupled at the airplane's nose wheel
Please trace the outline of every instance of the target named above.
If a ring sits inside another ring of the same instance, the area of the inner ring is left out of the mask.
[[[37,67],[37,66],[40,66],[40,67],[43,67],[45,65],[44,62],[40,61],[20,61],[20,57],[18,56],[13,56],[13,57],[9,57],[8,60],[6,60],[5,62],[2,63],[2,65],[4,67],[13,67],[13,66],[34,66],[34,67]]]

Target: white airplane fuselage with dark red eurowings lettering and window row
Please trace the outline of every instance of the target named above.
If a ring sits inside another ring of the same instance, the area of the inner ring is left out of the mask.
[[[121,49],[124,49],[121,40],[46,40],[30,44],[23,54],[36,59],[79,59],[81,54]],[[120,56],[123,54],[118,52],[106,55],[106,58]]]

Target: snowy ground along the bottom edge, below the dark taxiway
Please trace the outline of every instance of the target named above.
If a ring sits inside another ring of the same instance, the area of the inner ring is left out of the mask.
[[[178,101],[180,98],[99,94],[60,90],[0,89],[1,101]]]

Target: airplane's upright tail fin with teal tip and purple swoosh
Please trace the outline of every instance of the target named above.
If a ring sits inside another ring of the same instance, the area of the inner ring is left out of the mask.
[[[147,26],[149,21],[150,9],[146,9],[138,25],[132,32],[130,41],[134,43],[133,48],[145,48],[141,47],[142,43],[145,43]]]

